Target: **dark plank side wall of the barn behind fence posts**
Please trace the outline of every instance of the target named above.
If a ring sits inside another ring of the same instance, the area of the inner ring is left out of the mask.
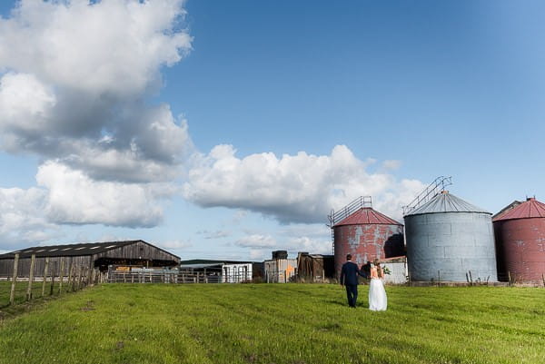
[[[55,275],[59,274],[61,269],[61,258],[64,259],[64,275],[68,275],[70,264],[75,266],[83,266],[89,268],[91,266],[91,256],[74,256],[74,257],[49,257],[49,268],[47,275],[51,275],[51,270],[55,270]],[[20,258],[17,264],[17,277],[28,277],[30,272],[30,257]],[[45,257],[35,259],[35,277],[42,277],[45,269]],[[0,260],[0,277],[12,277],[14,274],[14,259]]]

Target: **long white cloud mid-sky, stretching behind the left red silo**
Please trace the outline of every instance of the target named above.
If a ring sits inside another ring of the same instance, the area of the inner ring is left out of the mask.
[[[183,194],[202,206],[262,212],[284,223],[325,222],[332,208],[371,195],[373,207],[401,218],[401,205],[411,202],[424,185],[367,172],[370,163],[344,145],[334,147],[331,155],[299,152],[278,158],[263,152],[242,159],[233,146],[218,145],[195,162]]]

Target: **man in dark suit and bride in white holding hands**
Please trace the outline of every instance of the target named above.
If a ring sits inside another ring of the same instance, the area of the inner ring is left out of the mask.
[[[382,283],[384,271],[378,259],[373,261],[370,273],[369,310],[384,311],[388,306],[388,299],[386,298],[386,290],[384,290],[384,284]],[[356,307],[356,300],[358,300],[358,275],[367,278],[360,268],[358,268],[358,265],[352,261],[352,254],[346,255],[346,262],[342,264],[341,269],[341,285],[344,285],[346,288],[348,305],[352,308]]]

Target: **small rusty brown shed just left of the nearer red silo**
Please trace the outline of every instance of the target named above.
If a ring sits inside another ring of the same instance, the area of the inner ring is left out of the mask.
[[[333,256],[300,252],[297,255],[297,276],[299,280],[307,282],[324,282],[334,278]]]

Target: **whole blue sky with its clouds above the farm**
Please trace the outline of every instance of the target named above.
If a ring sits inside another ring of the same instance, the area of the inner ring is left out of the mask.
[[[360,195],[401,219],[438,175],[490,212],[545,199],[541,2],[15,5],[0,250],[260,260],[331,251],[327,214]]]

